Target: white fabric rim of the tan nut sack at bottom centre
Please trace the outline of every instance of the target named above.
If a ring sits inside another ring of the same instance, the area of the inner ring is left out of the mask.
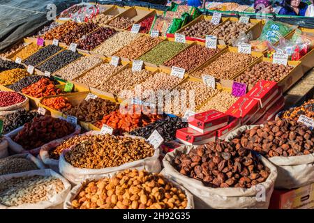
[[[77,196],[77,194],[80,193],[80,190],[82,188],[83,185],[86,185],[87,183],[89,183],[91,180],[99,180],[101,178],[111,178],[112,176],[114,176],[115,174],[102,174],[101,176],[96,176],[96,177],[92,177],[92,178],[86,178],[84,179],[81,183],[75,185],[75,187],[72,188],[72,190],[70,191],[70,193],[68,193],[68,196],[66,197],[66,201],[64,201],[64,209],[73,209],[71,203],[73,201],[73,199],[75,199],[75,197]],[[167,178],[167,177],[166,177]],[[188,199],[188,204],[186,206],[186,209],[194,209],[194,201],[193,201],[193,195],[190,194],[190,192],[188,192],[188,190],[186,190],[186,188],[182,187],[181,185],[175,183],[173,180],[170,180],[170,178],[167,178],[167,180],[169,180],[171,183],[173,183],[174,186],[180,188],[185,194],[186,194],[186,198]]]

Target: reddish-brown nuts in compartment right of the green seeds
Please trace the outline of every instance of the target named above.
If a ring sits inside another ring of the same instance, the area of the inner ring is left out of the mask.
[[[202,63],[210,59],[219,51],[220,49],[208,49],[201,45],[193,45],[165,62],[164,65],[170,68],[172,66],[184,68],[186,72],[189,72],[201,66]]]

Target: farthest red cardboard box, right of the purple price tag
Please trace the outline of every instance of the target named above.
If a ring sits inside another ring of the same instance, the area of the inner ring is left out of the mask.
[[[253,86],[251,91],[248,91],[246,97],[254,98],[260,101],[260,107],[264,108],[265,105],[269,104],[277,95],[283,93],[279,89],[276,82],[260,81]]]

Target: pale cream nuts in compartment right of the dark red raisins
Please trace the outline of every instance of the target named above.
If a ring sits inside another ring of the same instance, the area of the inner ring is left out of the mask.
[[[131,43],[137,37],[139,37],[139,34],[126,31],[116,33],[109,39],[105,40],[104,43],[96,47],[93,52],[100,55],[111,56],[122,47]]]

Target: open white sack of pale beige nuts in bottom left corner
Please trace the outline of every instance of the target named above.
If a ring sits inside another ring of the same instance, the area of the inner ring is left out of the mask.
[[[62,208],[70,187],[52,169],[0,176],[0,209]]]

